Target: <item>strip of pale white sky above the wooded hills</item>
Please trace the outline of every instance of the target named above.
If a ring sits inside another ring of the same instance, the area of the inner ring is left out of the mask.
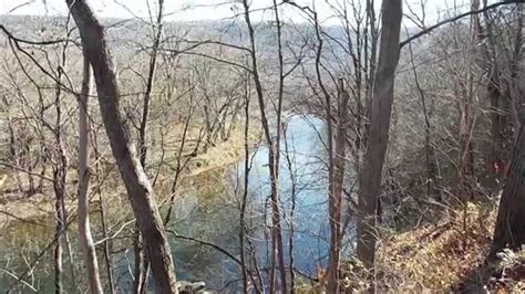
[[[327,1],[331,4],[341,3],[343,0],[296,0],[299,4],[315,6],[320,19],[325,22],[333,22],[333,12]],[[360,2],[360,0],[353,0]],[[443,18],[446,11],[454,7],[454,2],[462,11],[469,7],[467,0],[422,0],[426,6],[426,22],[431,24],[437,19]],[[148,18],[148,11],[156,11],[157,0],[87,0],[92,8],[102,18]],[[220,20],[231,18],[236,12],[235,2],[239,0],[165,0],[166,20],[196,21],[196,20]],[[262,9],[271,7],[272,0],[251,0],[251,8]],[[280,2],[280,0],[278,1]],[[378,7],[380,0],[375,0]],[[421,15],[421,0],[405,0],[404,12],[409,12],[409,7]],[[0,14],[39,14],[55,15],[65,14],[65,0],[0,0]],[[150,7],[150,9],[148,9]],[[240,7],[239,7],[240,8]],[[300,21],[299,13],[294,12],[291,8],[286,11],[286,17]],[[260,19],[269,18],[270,12],[259,13]],[[256,18],[257,18],[256,17]]]

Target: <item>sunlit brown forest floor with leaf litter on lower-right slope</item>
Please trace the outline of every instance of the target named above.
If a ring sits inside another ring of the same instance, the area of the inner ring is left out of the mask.
[[[525,291],[525,251],[486,262],[497,207],[469,203],[437,223],[387,234],[378,252],[378,287],[395,292]]]

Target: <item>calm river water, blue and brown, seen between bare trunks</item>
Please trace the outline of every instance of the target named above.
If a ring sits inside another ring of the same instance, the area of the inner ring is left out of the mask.
[[[284,242],[285,252],[287,252],[285,259],[289,264],[289,241],[292,233],[294,266],[303,274],[315,275],[316,269],[326,264],[329,240],[327,168],[325,165],[326,126],[322,119],[308,115],[291,115],[285,123],[287,127],[281,140],[279,176],[279,196],[284,208],[281,211]],[[268,149],[266,146],[262,145],[251,153],[248,235],[264,275],[265,269],[268,266],[269,254],[267,200],[270,186],[267,162]],[[238,241],[239,199],[244,189],[244,160],[240,160],[229,170],[215,175],[215,178],[196,179],[193,183],[195,189],[178,197],[174,210],[174,221],[168,229],[181,235],[213,243],[238,259],[240,252]],[[295,213],[291,217],[294,203]],[[11,230],[21,232],[28,231],[28,224],[20,224]],[[74,227],[72,229],[73,248],[78,248]],[[31,229],[25,234],[25,240],[38,243],[34,245],[34,252],[27,252],[27,256],[34,258],[35,252],[52,239],[52,225],[49,227],[49,232],[35,232]],[[177,279],[194,282],[204,281],[209,288],[226,293],[236,293],[239,290],[239,266],[230,258],[202,242],[182,240],[172,234],[168,237]],[[1,242],[4,243],[0,249],[0,261],[3,263],[3,269],[9,269],[9,266],[19,270],[27,269],[23,254],[14,254],[9,251],[11,246],[20,248],[27,244],[14,244],[14,241],[11,242],[9,238],[2,238]],[[128,250],[113,255],[116,261],[114,273],[119,292],[128,293],[133,281],[133,250],[131,244],[123,246],[124,249],[127,246]],[[32,281],[38,281],[35,284],[39,286],[39,293],[53,292],[52,254],[48,255],[40,263],[42,270],[29,276]],[[73,252],[73,255],[75,260],[81,259],[80,252]],[[99,260],[102,263],[102,255],[99,256]],[[74,264],[74,266],[76,266],[75,272],[83,273],[82,265]],[[66,272],[64,287],[74,290],[75,285],[68,274],[68,270],[66,261],[64,261],[64,271]],[[8,291],[12,282],[12,277],[0,273],[0,292]],[[27,293],[32,293],[32,291],[27,291]]]

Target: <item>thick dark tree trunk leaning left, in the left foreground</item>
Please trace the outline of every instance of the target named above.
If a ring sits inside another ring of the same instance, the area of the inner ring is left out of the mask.
[[[131,143],[120,107],[116,71],[104,28],[85,0],[66,0],[84,42],[96,82],[99,104],[111,149],[144,238],[156,293],[176,293],[175,269],[153,189]]]

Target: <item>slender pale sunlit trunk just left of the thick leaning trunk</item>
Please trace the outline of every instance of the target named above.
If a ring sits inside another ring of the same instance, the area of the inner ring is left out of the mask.
[[[82,45],[85,48],[85,44]],[[91,293],[102,293],[99,262],[90,228],[90,118],[87,111],[92,88],[91,65],[84,52],[82,90],[79,99],[79,242],[84,253],[84,263]]]

